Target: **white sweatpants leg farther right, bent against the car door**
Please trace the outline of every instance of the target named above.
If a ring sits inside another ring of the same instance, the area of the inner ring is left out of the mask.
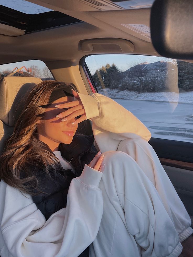
[[[180,242],[183,242],[193,233],[191,219],[153,147],[143,139],[126,139],[121,141],[118,150],[130,155],[153,183],[179,234]]]

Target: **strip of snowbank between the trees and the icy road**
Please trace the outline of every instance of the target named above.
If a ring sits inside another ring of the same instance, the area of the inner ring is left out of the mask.
[[[118,91],[117,89],[98,88],[99,94],[106,95],[110,98],[126,99],[126,100],[146,100],[161,101],[170,103],[193,103],[193,91],[190,92],[150,92],[137,93],[134,91]]]

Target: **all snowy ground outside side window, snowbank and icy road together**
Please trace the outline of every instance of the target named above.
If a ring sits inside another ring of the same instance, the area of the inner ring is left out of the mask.
[[[99,90],[100,94],[112,98],[140,119],[152,137],[193,142],[193,92],[180,93],[178,97],[170,92],[116,92]]]

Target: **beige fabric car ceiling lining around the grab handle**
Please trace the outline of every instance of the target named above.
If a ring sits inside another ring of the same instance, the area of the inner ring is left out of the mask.
[[[68,14],[84,22],[59,26],[42,31],[23,34],[23,31],[7,26],[9,36],[4,35],[0,24],[0,64],[24,60],[57,61],[81,59],[87,54],[121,53],[119,47],[96,47],[84,52],[80,40],[96,38],[119,38],[130,40],[135,46],[132,54],[160,56],[151,39],[126,28],[121,24],[143,24],[149,26],[151,8],[133,10],[99,11],[78,0],[30,0],[52,10]],[[77,62],[76,62],[77,63]]]

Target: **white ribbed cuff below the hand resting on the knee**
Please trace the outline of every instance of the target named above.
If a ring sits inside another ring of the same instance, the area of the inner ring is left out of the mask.
[[[77,179],[87,186],[98,188],[102,176],[103,172],[85,164],[81,176],[77,177]]]

